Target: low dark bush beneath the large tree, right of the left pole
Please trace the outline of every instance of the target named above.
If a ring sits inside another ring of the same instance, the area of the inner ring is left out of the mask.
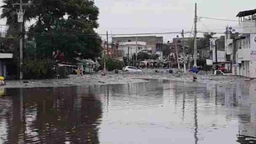
[[[22,65],[24,79],[48,79],[53,78],[54,63],[46,60],[27,60]]]

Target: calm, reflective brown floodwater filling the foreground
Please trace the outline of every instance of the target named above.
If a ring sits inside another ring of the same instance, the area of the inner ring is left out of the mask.
[[[256,84],[0,89],[2,144],[256,143]]]

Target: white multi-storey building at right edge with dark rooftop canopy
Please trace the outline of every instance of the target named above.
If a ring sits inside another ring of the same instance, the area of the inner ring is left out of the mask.
[[[256,21],[245,20],[245,16],[256,14],[256,10],[242,11],[237,14],[239,27],[236,32],[242,33],[233,39],[233,75],[256,78]],[[243,18],[243,20],[242,20]]]

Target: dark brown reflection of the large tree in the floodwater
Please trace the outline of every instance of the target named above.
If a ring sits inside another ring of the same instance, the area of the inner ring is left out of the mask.
[[[99,143],[101,102],[83,90],[7,89],[4,99],[9,101],[0,107],[0,126],[7,129],[1,143]]]

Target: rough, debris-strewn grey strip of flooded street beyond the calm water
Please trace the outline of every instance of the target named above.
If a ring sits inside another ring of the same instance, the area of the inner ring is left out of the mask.
[[[156,73],[158,70],[159,73]],[[128,84],[128,83],[140,83],[147,82],[152,79],[172,80],[172,81],[185,81],[192,82],[191,73],[171,74],[167,72],[161,72],[163,69],[144,69],[140,73],[130,72],[108,72],[106,76],[102,76],[101,72],[92,73],[89,75],[77,76],[69,75],[68,79],[44,79],[44,80],[7,80],[6,86],[3,88],[20,88],[20,87],[63,87],[63,86],[91,86],[91,85],[107,85],[107,84]],[[165,70],[166,71],[166,70]],[[28,82],[28,83],[24,83]],[[206,74],[200,72],[198,74],[197,83],[256,83],[256,80],[250,80],[240,76],[228,76],[228,75],[212,75],[211,72]]]

